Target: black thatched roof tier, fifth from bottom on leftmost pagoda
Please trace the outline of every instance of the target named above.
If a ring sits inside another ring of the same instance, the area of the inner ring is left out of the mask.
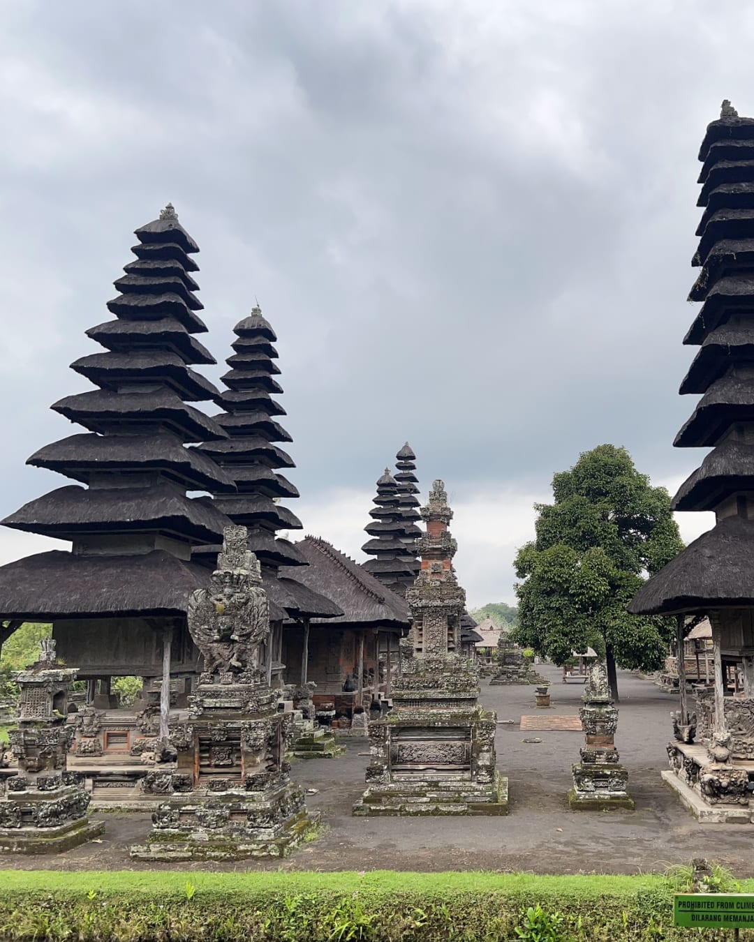
[[[159,382],[189,402],[217,399],[220,393],[204,376],[190,369],[177,353],[134,350],[131,353],[90,353],[71,368],[102,389],[119,391],[128,383]]]

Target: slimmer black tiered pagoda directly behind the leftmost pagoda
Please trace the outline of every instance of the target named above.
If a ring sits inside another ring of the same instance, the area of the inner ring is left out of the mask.
[[[295,467],[290,456],[276,443],[292,441],[277,421],[286,410],[274,394],[283,392],[275,376],[280,368],[274,363],[278,353],[277,340],[269,321],[256,306],[249,317],[234,328],[233,354],[225,361],[230,367],[222,377],[225,389],[220,397],[223,408],[214,421],[227,433],[227,438],[212,439],[199,451],[221,466],[236,485],[236,491],[225,493],[210,488],[214,506],[239,527],[247,528],[249,549],[262,567],[265,589],[270,597],[270,639],[266,657],[270,681],[279,684],[286,667],[282,660],[283,625],[302,635],[304,649],[308,646],[309,620],[342,614],[330,599],[308,589],[299,580],[280,575],[280,568],[307,566],[309,563],[296,546],[277,536],[279,530],[301,529],[295,513],[280,503],[299,492],[280,473]],[[221,547],[203,546],[194,552],[194,559],[205,560],[210,566]],[[306,659],[287,665],[286,679],[304,687],[307,683]]]

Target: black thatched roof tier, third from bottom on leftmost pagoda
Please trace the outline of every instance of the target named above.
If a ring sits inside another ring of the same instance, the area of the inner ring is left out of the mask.
[[[78,434],[36,451],[26,462],[88,483],[102,472],[158,471],[190,491],[234,491],[222,469],[165,432],[154,435]]]

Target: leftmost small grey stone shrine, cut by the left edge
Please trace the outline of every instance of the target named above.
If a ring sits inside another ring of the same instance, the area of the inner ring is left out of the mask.
[[[56,663],[55,642],[41,642],[39,660],[14,674],[21,688],[18,728],[9,731],[18,774],[0,794],[0,851],[68,851],[105,830],[87,818],[90,795],[81,776],[66,771],[74,740],[68,725],[68,688],[76,672]]]

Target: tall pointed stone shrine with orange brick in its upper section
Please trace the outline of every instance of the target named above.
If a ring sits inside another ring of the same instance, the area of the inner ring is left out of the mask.
[[[474,664],[460,654],[466,593],[452,568],[456,543],[441,480],[422,508],[421,569],[406,600],[412,625],[402,641],[393,709],[369,723],[367,791],[355,815],[503,815],[508,780],[495,768],[495,713],[478,702]]]

